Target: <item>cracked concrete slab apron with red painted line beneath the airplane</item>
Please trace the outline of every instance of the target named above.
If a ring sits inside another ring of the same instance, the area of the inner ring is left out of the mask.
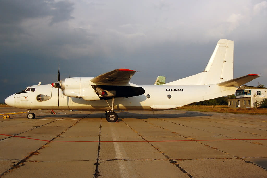
[[[32,112],[0,118],[1,177],[267,177],[265,115]]]

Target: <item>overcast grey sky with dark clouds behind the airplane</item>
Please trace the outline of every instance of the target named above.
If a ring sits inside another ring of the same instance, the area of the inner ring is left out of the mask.
[[[0,102],[29,85],[140,71],[131,82],[171,82],[205,66],[221,38],[234,41],[234,78],[267,85],[267,1],[0,0]]]

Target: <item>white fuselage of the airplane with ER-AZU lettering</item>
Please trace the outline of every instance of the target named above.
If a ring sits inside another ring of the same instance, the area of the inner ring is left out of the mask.
[[[130,85],[134,85],[129,83]],[[208,100],[220,96],[234,94],[236,87],[213,85],[155,86],[140,85],[145,93],[134,97],[115,98],[114,110],[159,110],[173,109],[193,102]],[[34,85],[28,88],[33,91],[19,92],[9,96],[6,103],[21,109],[53,109],[53,110],[109,110],[111,100],[86,101],[82,98],[67,97],[60,89],[48,85]],[[39,95],[50,99],[40,101]]]

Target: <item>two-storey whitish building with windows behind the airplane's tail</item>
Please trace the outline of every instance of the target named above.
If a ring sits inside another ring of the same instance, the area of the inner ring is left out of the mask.
[[[228,99],[228,107],[253,108],[267,98],[267,88],[258,86],[240,86],[235,92],[235,98]]]

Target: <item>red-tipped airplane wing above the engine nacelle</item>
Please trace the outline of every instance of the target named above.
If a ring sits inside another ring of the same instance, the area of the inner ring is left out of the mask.
[[[130,69],[115,69],[92,78],[91,82],[97,84],[127,84],[135,72],[135,70]]]

